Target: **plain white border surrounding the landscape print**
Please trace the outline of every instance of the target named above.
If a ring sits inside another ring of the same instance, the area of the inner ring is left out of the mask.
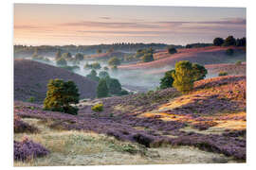
[[[46,4],[91,4],[91,5],[143,5],[143,6],[186,6],[186,7],[244,7],[247,8],[247,163],[244,164],[178,164],[178,165],[133,165],[133,166],[80,166],[75,169],[244,169],[256,165],[255,124],[256,111],[253,106],[256,97],[255,84],[255,39],[256,39],[256,6],[253,0],[9,0],[0,6],[1,17],[1,167],[12,169],[12,111],[13,111],[13,59],[12,59],[12,25],[13,3],[46,3]],[[31,169],[37,167],[30,167]],[[71,167],[44,167],[43,169],[69,169]],[[25,168],[20,168],[25,169]],[[42,169],[42,167],[41,167]],[[255,169],[255,168],[254,168]]]

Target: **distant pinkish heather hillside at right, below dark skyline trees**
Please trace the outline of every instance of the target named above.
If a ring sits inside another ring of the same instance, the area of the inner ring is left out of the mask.
[[[234,49],[233,56],[227,56],[226,50],[228,48]],[[241,47],[200,47],[200,48],[186,48],[178,49],[176,54],[170,55],[167,51],[160,51],[154,54],[154,61],[143,62],[137,64],[120,65],[119,69],[147,69],[147,68],[161,68],[164,66],[174,66],[176,61],[190,60],[199,64],[216,64],[228,63],[234,60],[245,60],[246,52]]]

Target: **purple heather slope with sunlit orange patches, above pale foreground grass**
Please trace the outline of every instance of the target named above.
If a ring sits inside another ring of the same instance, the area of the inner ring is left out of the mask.
[[[91,107],[99,102],[104,109],[96,113]],[[246,76],[200,80],[187,94],[170,88],[90,100],[78,106],[79,114],[69,115],[14,102],[14,112],[22,118],[52,121],[49,127],[103,133],[149,148],[189,145],[236,161],[247,158]]]

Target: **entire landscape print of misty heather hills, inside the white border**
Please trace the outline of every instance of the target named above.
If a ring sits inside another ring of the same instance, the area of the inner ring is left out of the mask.
[[[247,8],[13,15],[14,166],[249,161]]]

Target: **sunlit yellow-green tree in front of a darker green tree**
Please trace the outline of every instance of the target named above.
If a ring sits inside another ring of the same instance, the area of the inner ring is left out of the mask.
[[[182,93],[187,93],[193,87],[193,70],[192,63],[188,60],[181,60],[175,64],[175,72],[172,73],[174,77],[174,88]]]

